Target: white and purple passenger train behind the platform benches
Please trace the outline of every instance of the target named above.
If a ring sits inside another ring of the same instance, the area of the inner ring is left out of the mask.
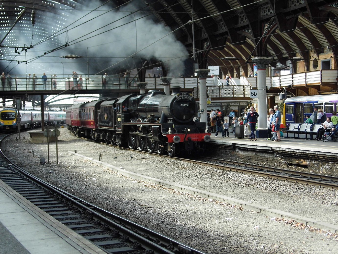
[[[304,123],[305,115],[311,117],[313,107],[324,110],[327,117],[338,111],[338,94],[300,96],[287,98],[284,102],[284,126],[289,123]]]

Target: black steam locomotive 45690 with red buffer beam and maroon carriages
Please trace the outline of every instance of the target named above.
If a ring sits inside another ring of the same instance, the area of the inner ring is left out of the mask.
[[[79,137],[174,156],[203,152],[210,141],[206,124],[194,121],[197,111],[193,95],[173,87],[171,95],[150,90],[76,104],[66,110],[66,123]]]

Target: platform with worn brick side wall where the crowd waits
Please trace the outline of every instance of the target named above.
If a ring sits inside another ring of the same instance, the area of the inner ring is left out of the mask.
[[[229,137],[222,137],[221,133],[215,137],[215,133],[211,133],[211,141],[207,146],[207,154],[210,156],[218,156],[219,158],[233,156],[238,160],[258,161],[264,163],[280,164],[287,166],[297,165],[307,167],[317,173],[332,173],[338,175],[338,169],[335,164],[338,163],[338,142],[323,142],[317,140],[309,140],[305,134],[300,134],[299,139],[281,137],[281,142],[267,140],[266,138],[258,138],[257,141],[250,141],[248,137],[235,138],[234,133],[230,133]],[[298,137],[298,135],[296,135]]]

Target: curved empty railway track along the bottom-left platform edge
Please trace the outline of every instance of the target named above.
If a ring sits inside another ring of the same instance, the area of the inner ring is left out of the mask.
[[[0,155],[3,182],[106,253],[203,254],[59,189]]]

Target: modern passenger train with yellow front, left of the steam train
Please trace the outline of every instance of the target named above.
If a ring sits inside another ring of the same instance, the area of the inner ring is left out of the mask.
[[[40,110],[20,110],[20,128],[32,129],[41,126],[42,117]],[[66,112],[64,111],[44,111],[45,125],[65,124]],[[5,108],[0,111],[0,130],[18,130],[18,110]]]

